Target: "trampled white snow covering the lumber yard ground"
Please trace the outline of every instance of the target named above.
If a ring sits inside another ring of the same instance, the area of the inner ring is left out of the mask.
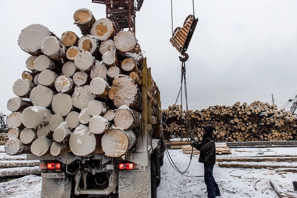
[[[3,151],[0,146],[0,152]],[[270,148],[233,148],[230,155],[217,155],[219,157],[265,157],[273,155],[291,155],[297,156],[296,147],[270,147]],[[189,162],[190,155],[183,154],[182,149],[168,149],[175,166],[179,170],[184,171]],[[261,154],[261,155],[260,155]],[[6,153],[0,153],[1,157]],[[25,156],[25,155],[24,155]],[[246,162],[250,163],[250,162]],[[271,162],[258,162],[271,163]],[[275,162],[287,163],[297,167],[297,162]],[[203,178],[203,164],[198,162],[198,157],[193,156],[191,164],[185,175],[179,174],[170,165],[167,156],[164,157],[164,165],[161,167],[161,183],[157,188],[158,198],[171,197],[201,197],[207,198],[206,186]],[[269,183],[269,179],[273,178],[283,190],[293,191],[292,182],[297,181],[297,173],[287,172],[279,174],[274,170],[267,168],[221,168],[218,163],[214,166],[214,178],[221,190],[220,198],[277,198],[278,195]],[[255,185],[256,183],[256,185]],[[0,183],[1,198],[37,198],[41,193],[41,177],[36,175],[28,175],[19,179]],[[297,193],[292,192],[297,195]],[[94,197],[94,196],[92,196]]]

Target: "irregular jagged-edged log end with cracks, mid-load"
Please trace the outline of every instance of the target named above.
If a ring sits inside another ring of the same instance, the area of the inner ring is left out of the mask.
[[[94,98],[95,95],[91,92],[89,85],[76,86],[72,95],[73,106],[78,109],[87,108],[88,103]]]

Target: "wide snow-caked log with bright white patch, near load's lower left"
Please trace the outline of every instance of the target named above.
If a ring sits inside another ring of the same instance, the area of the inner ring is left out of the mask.
[[[42,106],[29,106],[22,113],[22,123],[27,128],[45,126],[49,123],[51,111]]]

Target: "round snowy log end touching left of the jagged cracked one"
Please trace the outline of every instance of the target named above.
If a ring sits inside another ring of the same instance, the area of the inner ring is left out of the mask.
[[[67,116],[72,106],[72,97],[66,93],[58,93],[53,97],[52,109],[56,114],[61,113],[62,116]]]

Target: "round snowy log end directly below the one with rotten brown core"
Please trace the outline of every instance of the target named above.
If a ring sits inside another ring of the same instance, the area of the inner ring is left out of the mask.
[[[77,68],[83,71],[90,71],[95,64],[95,57],[89,52],[80,52],[74,58]]]

